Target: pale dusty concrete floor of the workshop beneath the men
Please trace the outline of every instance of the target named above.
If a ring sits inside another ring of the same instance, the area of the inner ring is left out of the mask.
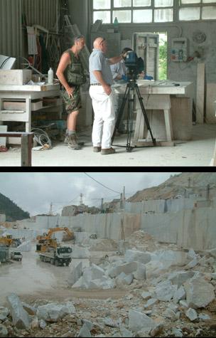
[[[53,149],[33,151],[33,167],[210,167],[215,151],[216,125],[193,126],[192,141],[176,142],[175,147],[136,148],[126,152],[114,147],[116,154],[102,156],[92,152],[91,132],[80,135],[86,142],[80,151],[65,147],[63,142]],[[126,137],[115,137],[114,144],[126,145]],[[20,167],[21,149],[13,147],[0,152],[0,167]]]

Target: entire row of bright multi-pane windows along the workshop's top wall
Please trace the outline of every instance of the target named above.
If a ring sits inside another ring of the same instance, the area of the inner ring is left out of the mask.
[[[216,0],[92,0],[93,22],[161,23],[216,19]]]

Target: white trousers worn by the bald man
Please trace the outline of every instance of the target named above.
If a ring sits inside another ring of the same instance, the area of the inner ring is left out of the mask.
[[[114,92],[108,96],[102,85],[90,86],[90,97],[95,112],[92,130],[93,147],[109,149],[115,126]]]

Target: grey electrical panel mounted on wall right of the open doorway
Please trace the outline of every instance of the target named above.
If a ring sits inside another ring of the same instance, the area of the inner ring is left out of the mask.
[[[188,60],[188,38],[173,38],[171,48],[171,61]]]

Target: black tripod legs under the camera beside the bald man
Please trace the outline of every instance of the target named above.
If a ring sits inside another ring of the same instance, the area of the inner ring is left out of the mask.
[[[128,112],[127,112],[127,122],[126,122],[126,131],[127,131],[127,142],[126,142],[126,151],[132,152],[134,147],[131,147],[131,134],[133,132],[133,123],[134,123],[134,112],[136,111],[136,101],[135,101],[135,93],[137,94],[139,98],[139,103],[141,105],[141,110],[144,115],[144,119],[146,122],[146,126],[148,128],[148,131],[151,134],[151,139],[153,142],[153,145],[156,146],[156,139],[153,138],[153,134],[151,132],[151,127],[148,122],[148,116],[146,114],[146,110],[144,107],[143,97],[141,97],[141,94],[139,92],[139,87],[136,83],[136,80],[132,78],[132,80],[129,81],[126,85],[126,90],[124,93],[123,102],[121,104],[121,107],[119,109],[119,114],[117,117],[117,122],[114,128],[114,133],[112,136],[112,143],[114,142],[114,137],[117,132],[117,129],[119,128],[119,124],[121,122],[121,117],[124,114],[124,107],[126,105],[126,101],[128,101]],[[125,147],[125,146],[117,146],[117,147]]]

